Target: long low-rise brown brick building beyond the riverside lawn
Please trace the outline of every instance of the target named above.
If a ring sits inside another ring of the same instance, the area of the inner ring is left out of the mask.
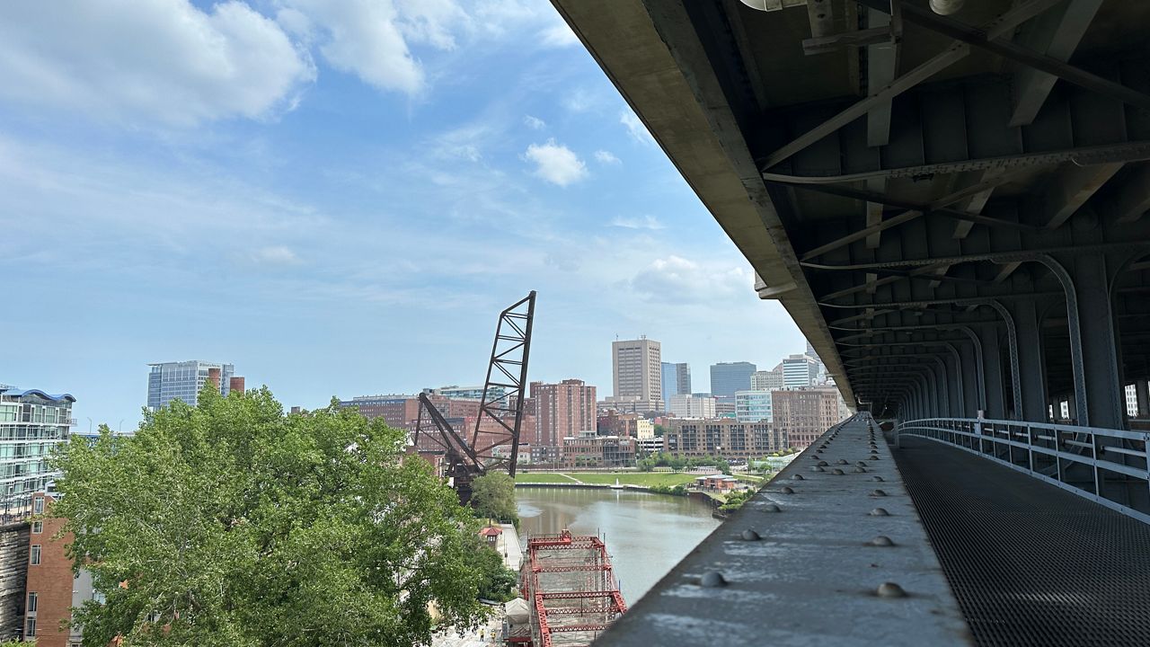
[[[787,446],[782,432],[769,423],[739,423],[730,418],[673,418],[662,435],[662,447],[664,451],[675,456],[753,458]]]

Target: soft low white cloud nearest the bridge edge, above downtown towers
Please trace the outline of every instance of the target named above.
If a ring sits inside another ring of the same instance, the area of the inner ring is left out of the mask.
[[[630,281],[639,295],[678,303],[713,303],[750,294],[753,283],[754,275],[747,267],[703,265],[677,256],[656,259]]]

